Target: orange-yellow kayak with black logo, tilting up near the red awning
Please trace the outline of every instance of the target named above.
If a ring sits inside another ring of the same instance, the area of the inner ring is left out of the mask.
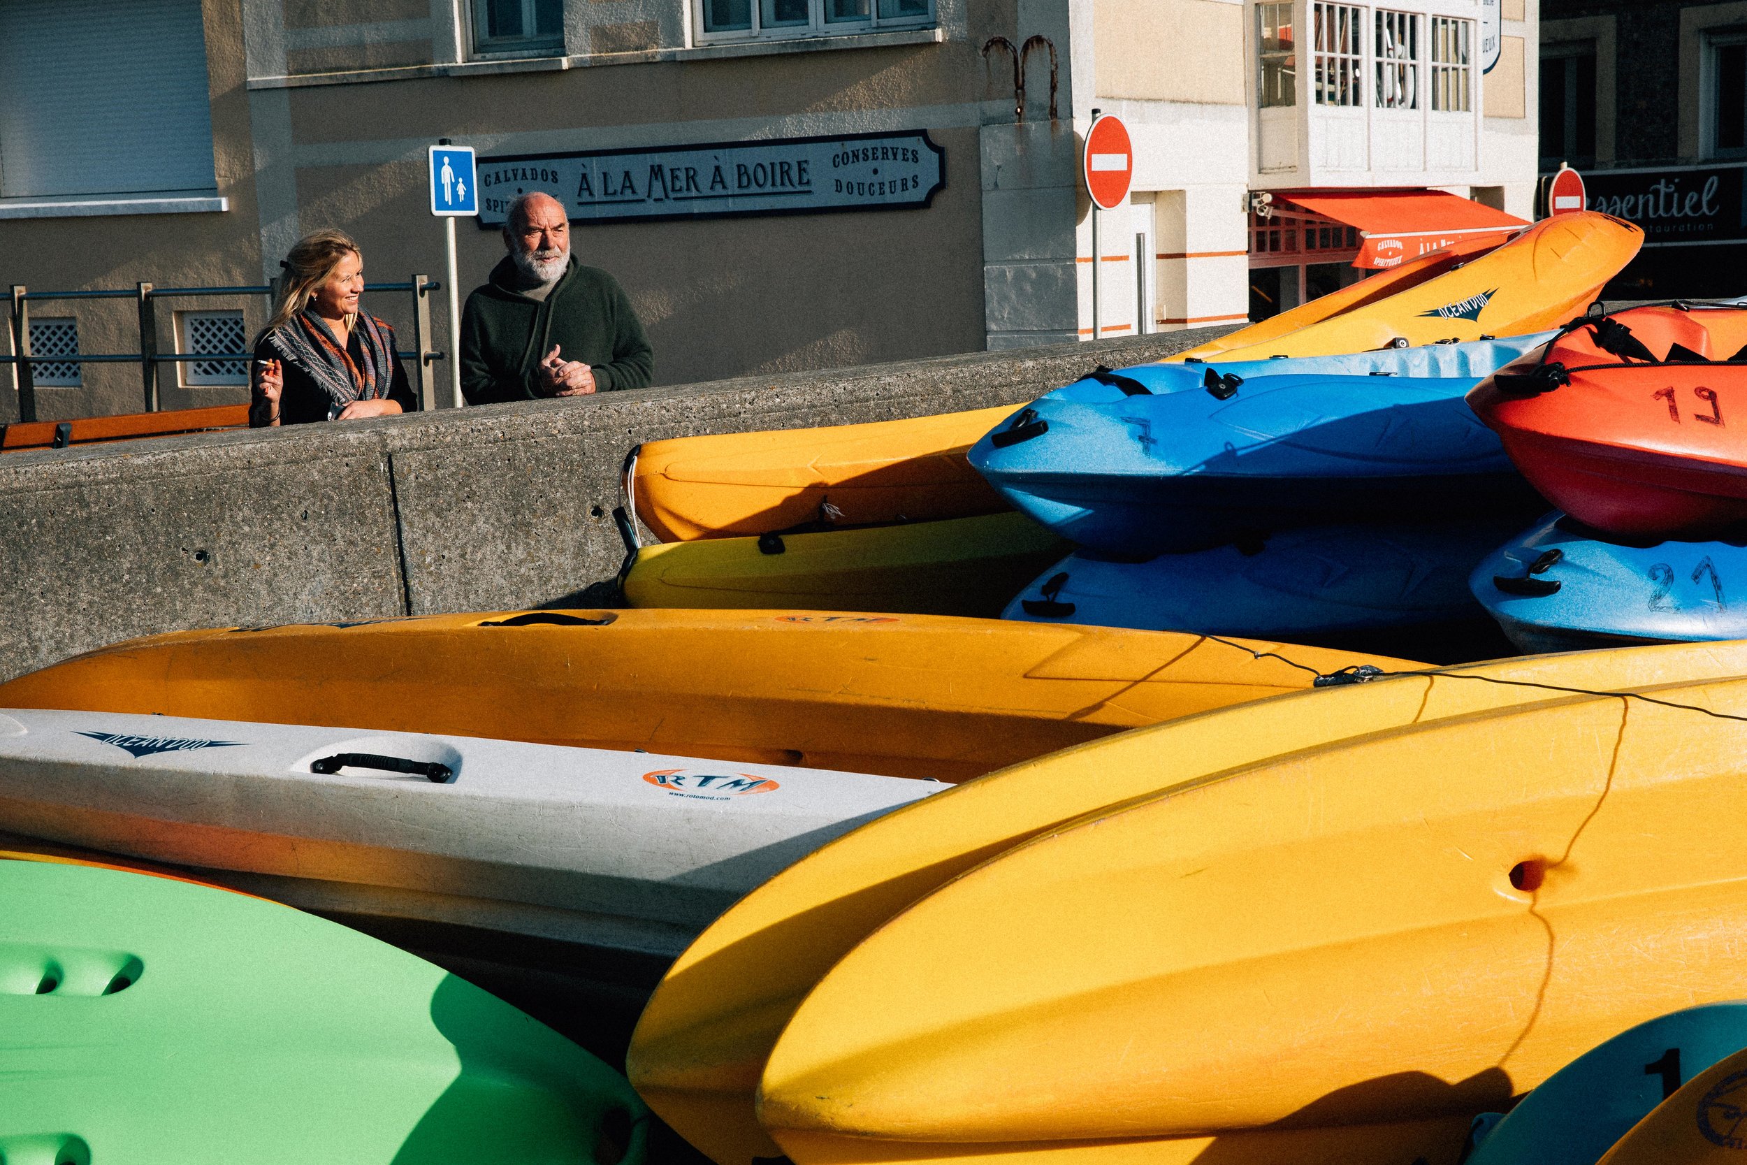
[[[1639,227],[1612,215],[1576,211],[1543,218],[1504,246],[1434,279],[1277,339],[1226,348],[1219,358],[1336,356],[1541,332],[1581,316],[1642,243]]]

